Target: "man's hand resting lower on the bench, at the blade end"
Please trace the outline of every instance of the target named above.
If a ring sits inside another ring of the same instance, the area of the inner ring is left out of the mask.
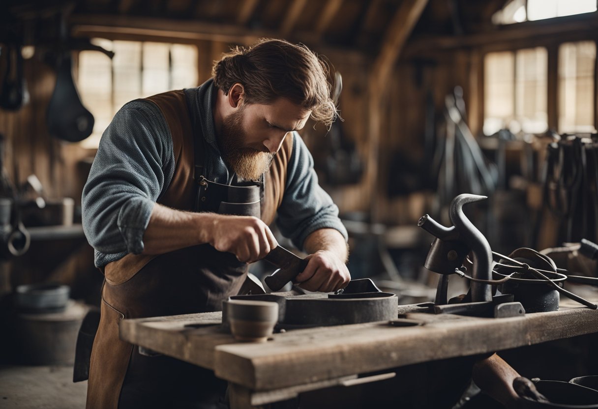
[[[344,288],[351,274],[343,261],[331,251],[320,250],[306,257],[307,267],[295,281],[308,291],[331,292]]]

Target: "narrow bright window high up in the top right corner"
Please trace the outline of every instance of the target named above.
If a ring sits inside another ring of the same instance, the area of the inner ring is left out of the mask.
[[[492,16],[492,22],[505,25],[593,11],[596,0],[511,0]]]

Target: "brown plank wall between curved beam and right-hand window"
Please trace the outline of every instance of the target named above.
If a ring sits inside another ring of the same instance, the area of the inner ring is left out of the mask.
[[[431,211],[434,191],[426,186],[423,177],[423,173],[431,175],[431,163],[429,158],[426,160],[424,149],[426,96],[431,93],[434,102],[435,133],[438,133],[439,123],[442,122],[444,98],[456,86],[463,88],[468,111],[474,114],[474,118],[477,117],[477,106],[471,103],[471,94],[475,96],[477,93],[477,88],[473,92],[471,83],[471,75],[475,77],[476,69],[475,54],[470,51],[438,53],[434,59],[422,57],[400,60],[396,65],[389,84],[388,103],[382,113],[378,194],[373,209],[380,221],[391,225],[415,225],[420,216]],[[474,129],[474,132],[477,132],[477,129]],[[401,160],[420,164],[419,169],[411,168],[411,171],[421,173],[421,191],[389,196],[389,181],[392,182],[398,176],[405,176],[393,172],[393,169],[396,169],[396,161]]]

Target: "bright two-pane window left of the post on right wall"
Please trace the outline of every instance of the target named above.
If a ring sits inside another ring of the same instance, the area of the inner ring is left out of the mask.
[[[508,128],[541,133],[547,120],[546,48],[488,53],[484,57],[484,134]]]

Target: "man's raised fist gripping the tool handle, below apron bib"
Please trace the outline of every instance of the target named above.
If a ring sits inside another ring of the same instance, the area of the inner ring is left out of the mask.
[[[209,237],[216,250],[243,263],[261,260],[278,245],[270,228],[254,216],[214,215]]]

